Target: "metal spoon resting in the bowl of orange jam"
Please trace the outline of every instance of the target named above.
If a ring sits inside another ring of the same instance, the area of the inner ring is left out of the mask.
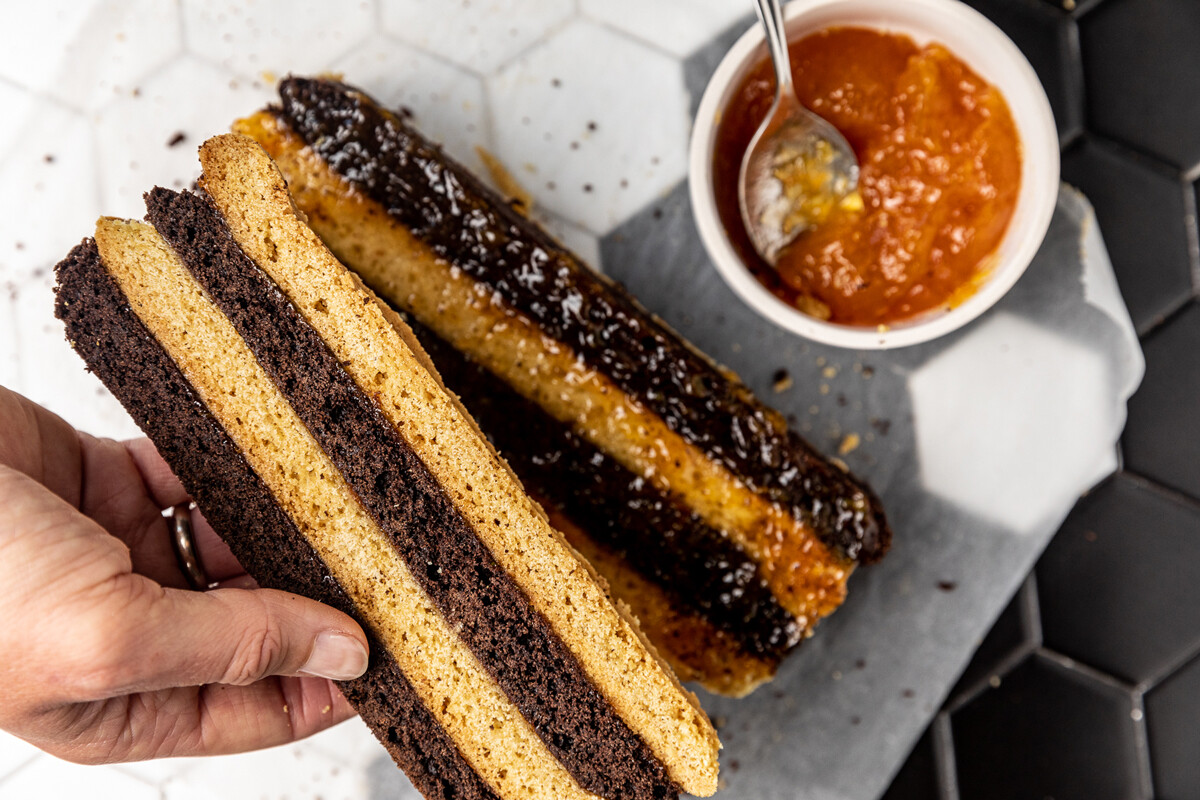
[[[862,198],[850,143],[796,96],[780,0],[756,4],[778,85],[742,158],[738,204],[755,249],[774,266],[785,245],[838,207],[862,207]]]

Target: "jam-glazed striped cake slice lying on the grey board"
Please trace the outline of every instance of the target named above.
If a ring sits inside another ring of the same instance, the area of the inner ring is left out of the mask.
[[[890,531],[871,492],[398,115],[289,78],[241,120],[685,679],[744,694]]]

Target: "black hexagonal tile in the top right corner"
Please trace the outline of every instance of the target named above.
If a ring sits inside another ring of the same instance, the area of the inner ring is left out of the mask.
[[[1079,25],[1088,127],[1200,163],[1200,2],[1109,0]]]

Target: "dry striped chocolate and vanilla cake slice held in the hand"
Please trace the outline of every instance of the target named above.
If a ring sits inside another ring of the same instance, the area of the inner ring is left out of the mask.
[[[342,688],[427,798],[716,788],[713,728],[246,137],[103,218],[58,315],[260,584],[354,615]]]

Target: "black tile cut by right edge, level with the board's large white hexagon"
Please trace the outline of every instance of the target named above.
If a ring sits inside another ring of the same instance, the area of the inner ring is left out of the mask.
[[[1200,498],[1200,303],[1142,343],[1146,377],[1129,399],[1126,467]]]

